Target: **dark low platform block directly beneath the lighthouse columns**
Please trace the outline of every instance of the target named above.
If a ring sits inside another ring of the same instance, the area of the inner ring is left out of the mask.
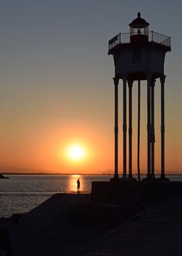
[[[92,182],[91,200],[101,204],[155,203],[182,195],[182,182]]]

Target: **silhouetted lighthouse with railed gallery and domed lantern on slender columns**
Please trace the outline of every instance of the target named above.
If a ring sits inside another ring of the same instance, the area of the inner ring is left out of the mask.
[[[148,164],[146,180],[155,180],[155,118],[154,88],[155,80],[161,82],[161,178],[168,180],[164,172],[164,59],[170,52],[170,37],[149,31],[149,23],[138,17],[129,24],[130,33],[120,33],[109,40],[109,55],[114,57],[114,99],[115,99],[115,155],[114,178],[118,180],[118,84],[123,80],[123,176],[122,180],[133,180],[132,173],[132,88],[138,82],[138,101],[140,99],[140,81],[147,83],[147,131],[148,131]],[[129,165],[127,174],[127,85],[129,91]],[[139,104],[138,104],[139,106]],[[138,108],[138,114],[140,110]],[[140,119],[138,119],[140,120]],[[138,126],[139,127],[139,126]],[[139,142],[138,133],[138,165]],[[139,168],[139,167],[138,167]]]

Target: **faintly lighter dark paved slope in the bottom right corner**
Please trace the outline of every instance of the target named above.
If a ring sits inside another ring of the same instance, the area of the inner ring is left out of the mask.
[[[75,256],[182,255],[182,197],[152,204]]]

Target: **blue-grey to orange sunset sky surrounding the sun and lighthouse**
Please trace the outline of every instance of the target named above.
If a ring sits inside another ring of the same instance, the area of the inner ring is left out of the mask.
[[[166,54],[166,172],[182,173],[181,1],[9,0],[0,3],[0,167],[49,172],[114,170],[114,63],[108,40],[129,32],[140,11],[149,30],[172,37]],[[146,83],[141,99],[141,169],[146,171]],[[133,87],[136,170],[137,87]],[[120,82],[119,172],[122,172]],[[155,168],[160,170],[160,84],[155,86]],[[73,144],[83,161],[65,157]]]

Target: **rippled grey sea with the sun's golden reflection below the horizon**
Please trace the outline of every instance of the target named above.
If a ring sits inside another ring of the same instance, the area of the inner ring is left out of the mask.
[[[29,212],[55,193],[90,192],[92,181],[109,181],[109,175],[9,175],[0,179],[0,217]],[[171,181],[182,181],[182,176],[169,176]]]

